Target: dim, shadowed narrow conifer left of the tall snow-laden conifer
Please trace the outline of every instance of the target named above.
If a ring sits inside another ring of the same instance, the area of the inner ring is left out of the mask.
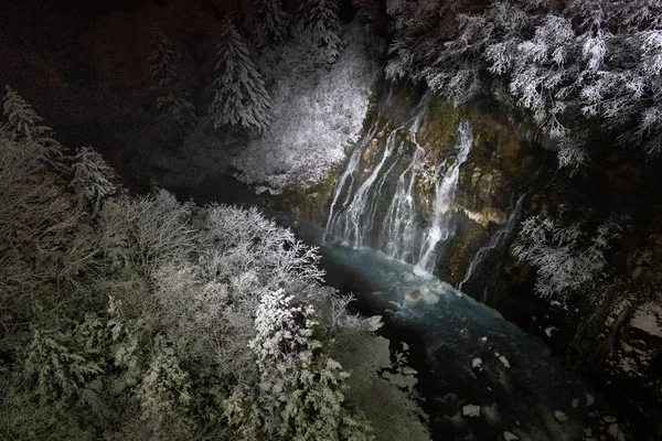
[[[152,30],[149,57],[152,88],[159,94],[157,108],[163,109],[182,127],[195,125],[195,106],[188,100],[188,94],[180,76],[177,62],[181,54],[159,28]]]

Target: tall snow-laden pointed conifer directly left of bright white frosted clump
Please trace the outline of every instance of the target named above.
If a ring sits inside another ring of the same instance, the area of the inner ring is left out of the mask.
[[[210,116],[214,128],[241,125],[264,131],[269,127],[269,94],[250,61],[248,46],[229,18],[223,22],[216,46],[214,99]]]

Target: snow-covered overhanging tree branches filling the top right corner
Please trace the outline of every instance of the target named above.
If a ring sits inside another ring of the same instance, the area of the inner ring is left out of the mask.
[[[467,12],[470,11],[470,12]],[[495,76],[558,144],[559,164],[586,159],[576,117],[662,152],[662,3],[650,0],[392,1],[393,79],[423,79],[452,103]]]

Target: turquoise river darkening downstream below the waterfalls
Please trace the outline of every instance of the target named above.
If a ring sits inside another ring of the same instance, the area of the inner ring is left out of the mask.
[[[434,439],[503,440],[510,431],[521,440],[583,440],[583,430],[608,413],[590,385],[541,340],[450,284],[370,248],[335,243],[320,251],[328,282],[356,292],[364,311],[385,315],[392,348],[398,340],[410,346]],[[407,302],[415,290],[423,299]],[[474,358],[482,369],[472,368]],[[585,394],[596,404],[586,406]],[[481,406],[480,416],[462,417],[466,405]]]

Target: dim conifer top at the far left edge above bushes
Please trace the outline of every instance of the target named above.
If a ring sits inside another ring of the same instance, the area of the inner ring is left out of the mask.
[[[11,87],[6,86],[4,90],[3,114],[8,121],[3,130],[12,133],[13,140],[36,142],[51,152],[61,153],[62,147],[52,138],[53,130],[40,125],[43,118]]]

